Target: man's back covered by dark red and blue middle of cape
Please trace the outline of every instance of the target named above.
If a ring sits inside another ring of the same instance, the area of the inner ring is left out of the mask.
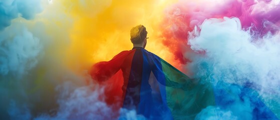
[[[165,86],[160,58],[143,47],[133,47],[132,53],[132,60],[126,58],[121,66],[124,77],[123,108],[135,109],[147,118],[172,118],[161,95],[163,90],[160,92],[160,85]]]

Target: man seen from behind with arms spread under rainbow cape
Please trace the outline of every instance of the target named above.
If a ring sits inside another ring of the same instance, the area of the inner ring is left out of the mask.
[[[106,86],[106,102],[117,104],[116,109],[134,109],[148,119],[189,119],[202,108],[212,105],[214,98],[209,87],[199,86],[199,80],[189,78],[145,49],[147,33],[144,25],[133,27],[130,31],[131,50],[92,66],[92,78]],[[205,94],[211,97],[208,101],[203,100]]]

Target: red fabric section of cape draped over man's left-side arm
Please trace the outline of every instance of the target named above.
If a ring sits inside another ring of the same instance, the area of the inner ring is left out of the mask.
[[[110,61],[94,64],[90,70],[93,80],[105,86],[106,103],[113,104],[116,110],[123,104],[123,91],[126,91],[134,53],[135,49],[122,51]]]

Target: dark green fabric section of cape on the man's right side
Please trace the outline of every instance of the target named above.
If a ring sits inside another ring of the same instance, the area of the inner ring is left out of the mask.
[[[163,59],[161,64],[166,78],[166,100],[174,119],[194,119],[203,108],[215,105],[210,83],[189,78]]]

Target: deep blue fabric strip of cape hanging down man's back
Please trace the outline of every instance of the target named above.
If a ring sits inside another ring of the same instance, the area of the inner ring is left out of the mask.
[[[162,72],[160,58],[145,49],[141,50],[143,53],[143,74],[138,113],[149,119],[173,119],[166,103],[165,75]],[[156,79],[150,77],[151,71]],[[157,83],[152,85],[159,87],[159,90],[152,88],[151,83]]]

